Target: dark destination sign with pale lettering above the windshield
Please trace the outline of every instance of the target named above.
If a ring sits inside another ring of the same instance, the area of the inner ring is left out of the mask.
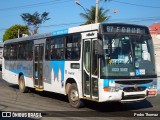
[[[103,32],[107,33],[132,33],[132,34],[148,34],[148,29],[134,25],[103,25]]]

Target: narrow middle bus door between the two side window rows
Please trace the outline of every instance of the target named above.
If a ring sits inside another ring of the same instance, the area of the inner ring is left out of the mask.
[[[44,59],[44,43],[34,44],[34,87],[43,89],[43,59]]]

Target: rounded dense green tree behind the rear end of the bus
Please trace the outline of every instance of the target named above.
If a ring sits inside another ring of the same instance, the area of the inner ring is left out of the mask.
[[[3,41],[21,37],[22,34],[29,34],[28,27],[19,24],[13,25],[5,31]]]

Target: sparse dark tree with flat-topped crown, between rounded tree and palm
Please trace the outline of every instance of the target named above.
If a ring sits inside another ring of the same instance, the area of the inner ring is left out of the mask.
[[[50,19],[48,18],[48,14],[49,14],[48,12],[43,12],[42,14],[35,12],[33,14],[23,13],[20,16],[27,24],[30,34],[34,35],[38,33],[39,26],[43,24],[45,21]]]

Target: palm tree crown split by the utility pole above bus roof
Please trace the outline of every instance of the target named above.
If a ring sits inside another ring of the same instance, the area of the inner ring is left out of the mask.
[[[86,19],[85,25],[95,23],[95,11],[96,7],[92,6],[90,10],[86,9],[86,13],[80,13],[80,16]],[[104,22],[110,18],[110,16],[106,15],[108,11],[109,10],[104,10],[102,7],[98,9],[98,22]]]

